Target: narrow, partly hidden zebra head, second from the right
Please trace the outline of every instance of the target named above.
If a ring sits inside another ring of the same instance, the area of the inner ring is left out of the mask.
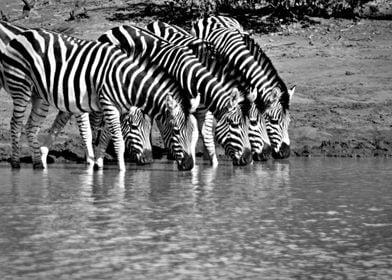
[[[263,114],[251,103],[249,110],[249,141],[253,160],[266,161],[271,156],[271,142],[268,137],[266,121]]]

